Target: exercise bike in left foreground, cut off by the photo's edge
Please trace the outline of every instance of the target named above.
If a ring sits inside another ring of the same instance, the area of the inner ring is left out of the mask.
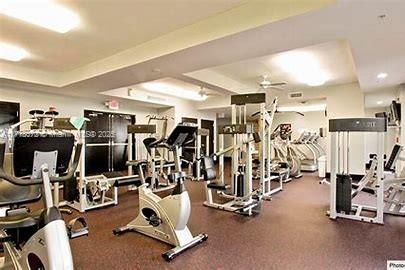
[[[13,143],[14,174],[10,174],[3,169],[6,145],[0,143],[0,207],[7,208],[6,215],[0,217],[0,243],[4,250],[0,268],[73,269],[69,237],[87,235],[87,225],[78,218],[66,227],[53,202],[51,184],[74,177],[81,147],[74,146],[70,133],[19,132]],[[21,207],[41,197],[44,209],[30,212]]]

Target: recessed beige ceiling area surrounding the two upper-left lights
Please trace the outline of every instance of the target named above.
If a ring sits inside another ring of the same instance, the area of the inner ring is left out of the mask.
[[[34,0],[26,0],[32,1]],[[29,58],[12,63],[45,71],[69,71],[111,56],[206,17],[242,0],[58,0],[81,18],[59,34],[0,14],[2,42],[25,48]],[[22,5],[26,5],[21,1]],[[0,60],[2,61],[2,60]]]

